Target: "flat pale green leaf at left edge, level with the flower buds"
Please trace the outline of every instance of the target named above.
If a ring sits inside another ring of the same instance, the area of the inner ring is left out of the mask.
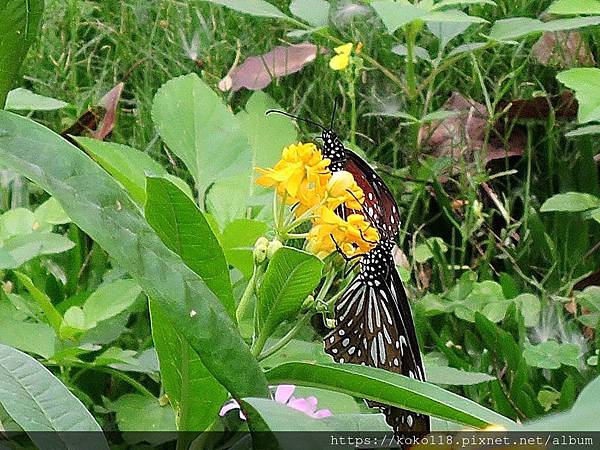
[[[72,249],[75,243],[64,236],[48,232],[34,232],[13,236],[4,241],[2,247],[7,251],[16,265],[13,267],[0,267],[15,269],[23,263],[41,255],[62,253]]]

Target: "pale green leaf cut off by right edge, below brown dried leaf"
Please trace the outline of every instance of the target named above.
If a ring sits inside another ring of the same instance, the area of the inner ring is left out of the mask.
[[[600,23],[600,17],[598,17]],[[579,103],[577,120],[587,123],[600,120],[600,69],[578,67],[556,75],[558,81],[575,91]]]

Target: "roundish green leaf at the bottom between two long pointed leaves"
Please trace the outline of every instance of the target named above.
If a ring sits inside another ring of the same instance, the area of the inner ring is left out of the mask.
[[[112,403],[112,409],[117,416],[117,425],[121,432],[143,431],[138,436],[140,440],[151,440],[151,444],[158,445],[166,440],[175,438],[175,433],[169,436],[165,431],[175,430],[175,414],[168,403],[161,405],[159,400],[139,394],[125,394]],[[163,433],[148,433],[163,431]],[[136,433],[128,437],[130,444],[135,443]],[[127,439],[127,436],[125,436]]]

